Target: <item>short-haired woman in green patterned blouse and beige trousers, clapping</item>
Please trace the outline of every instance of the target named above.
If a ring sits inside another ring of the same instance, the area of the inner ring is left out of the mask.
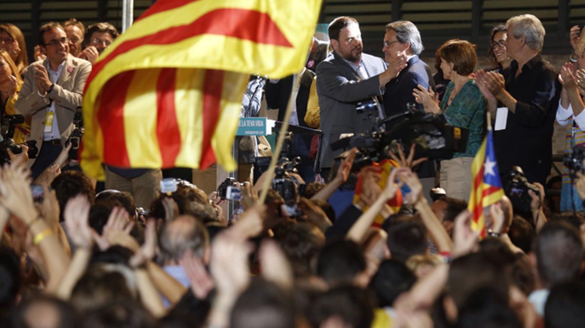
[[[486,100],[475,81],[470,77],[477,63],[474,44],[464,40],[449,40],[438,50],[441,54],[441,69],[447,85],[441,103],[436,101],[432,89],[418,86],[413,95],[425,111],[444,115],[453,126],[469,129],[467,149],[455,153],[450,160],[441,161],[441,188],[447,196],[467,201],[471,191],[473,157],[481,146],[482,127]]]

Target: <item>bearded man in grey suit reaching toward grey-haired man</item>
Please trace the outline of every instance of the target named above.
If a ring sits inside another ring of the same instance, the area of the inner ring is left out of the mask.
[[[380,96],[388,81],[406,67],[406,56],[388,63],[379,57],[362,53],[362,33],[359,23],[352,17],[342,16],[329,24],[329,42],[333,51],[317,66],[317,94],[321,113],[319,154],[315,170],[327,178],[333,160],[342,153],[332,151],[330,144],[341,134],[363,133],[371,127],[364,120],[365,113],[356,111],[359,102]],[[383,111],[379,115],[383,117]]]

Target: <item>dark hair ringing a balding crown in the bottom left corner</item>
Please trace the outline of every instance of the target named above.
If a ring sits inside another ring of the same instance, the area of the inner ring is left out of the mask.
[[[54,327],[59,328],[77,328],[79,317],[77,312],[70,305],[70,303],[61,301],[60,299],[45,295],[37,294],[30,298],[25,299],[18,305],[16,310],[12,313],[11,322],[8,325],[11,328],[29,328],[36,327],[35,324],[31,324],[30,319],[37,321],[47,320],[47,318],[31,317],[29,310],[38,305],[51,306],[57,313],[59,313],[59,320],[55,323]],[[37,313],[38,315],[39,313]]]

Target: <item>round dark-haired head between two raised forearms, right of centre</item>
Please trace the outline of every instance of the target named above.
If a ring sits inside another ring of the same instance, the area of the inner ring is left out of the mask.
[[[409,257],[426,253],[428,241],[422,223],[415,219],[400,219],[390,223],[388,233],[388,249],[394,260],[406,263]]]

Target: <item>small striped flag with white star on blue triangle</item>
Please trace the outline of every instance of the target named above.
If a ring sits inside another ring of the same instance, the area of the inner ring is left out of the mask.
[[[504,189],[495,160],[493,132],[491,127],[488,127],[486,138],[473,158],[472,192],[467,205],[467,209],[472,213],[472,229],[480,232],[480,238],[486,236],[484,208],[500,201],[502,196]]]

